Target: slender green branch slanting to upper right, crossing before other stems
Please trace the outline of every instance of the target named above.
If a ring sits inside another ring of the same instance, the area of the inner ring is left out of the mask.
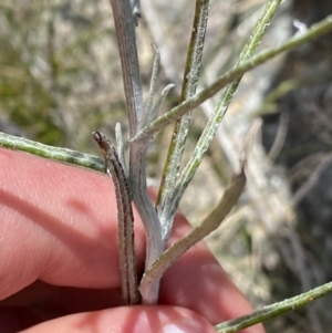
[[[235,81],[237,77],[243,75],[249,70],[257,67],[258,65],[264,63],[269,59],[281,54],[282,52],[290,51],[297,46],[300,46],[304,43],[308,43],[312,40],[318,39],[320,35],[323,35],[332,30],[332,15],[329,15],[324,20],[320,21],[317,24],[313,24],[307,32],[302,34],[295,34],[286,43],[281,44],[278,48],[270,49],[258,53],[257,55],[250,58],[247,61],[243,61],[237,67],[230,70],[226,74],[224,74],[220,79],[218,79],[215,83],[212,83],[209,87],[203,90],[194,97],[187,100],[186,102],[179,104],[178,106],[172,108],[169,112],[158,117],[149,125],[145,126],[139,131],[135,137],[132,138],[132,142],[142,139],[143,137],[153,136],[155,133],[164,128],[167,124],[173,123],[187,112],[194,110],[198,105],[200,105],[206,100],[214,96],[217,92],[224,89],[227,84]]]

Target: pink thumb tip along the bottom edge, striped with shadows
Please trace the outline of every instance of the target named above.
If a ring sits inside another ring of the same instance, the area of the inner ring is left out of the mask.
[[[72,314],[22,332],[216,333],[216,330],[206,319],[184,308],[139,305]]]

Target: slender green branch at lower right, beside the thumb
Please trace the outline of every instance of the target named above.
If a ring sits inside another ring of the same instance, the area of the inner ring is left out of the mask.
[[[312,301],[315,301],[332,292],[332,282],[318,287],[311,291],[304,292],[292,299],[284,300],[272,305],[268,305],[258,310],[251,314],[247,314],[235,320],[224,322],[216,325],[216,330],[219,333],[231,333],[239,330],[252,326],[255,324],[267,321],[271,318],[278,316],[291,310],[297,310],[304,306]]]

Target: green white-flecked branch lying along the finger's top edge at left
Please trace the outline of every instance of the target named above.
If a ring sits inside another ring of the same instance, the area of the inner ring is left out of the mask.
[[[0,132],[0,146],[27,152],[33,155],[74,164],[76,166],[94,169],[104,173],[104,162],[97,156],[84,154],[68,148],[52,147],[23,137]]]

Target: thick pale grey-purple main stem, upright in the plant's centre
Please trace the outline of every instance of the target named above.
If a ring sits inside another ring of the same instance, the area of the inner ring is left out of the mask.
[[[141,126],[143,114],[142,85],[136,50],[135,29],[129,0],[111,0],[121,56],[126,95],[129,133],[133,137]],[[160,223],[146,186],[146,149],[148,139],[133,143],[129,150],[129,186],[135,206],[146,232],[147,269],[164,251]],[[158,299],[159,281],[155,281],[143,302],[153,304]]]

